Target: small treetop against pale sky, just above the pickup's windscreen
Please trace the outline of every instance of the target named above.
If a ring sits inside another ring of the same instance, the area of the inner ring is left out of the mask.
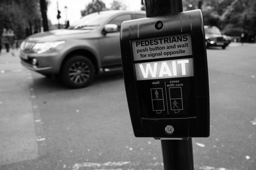
[[[106,5],[102,0],[92,0],[86,5],[84,10],[81,10],[81,16],[86,16],[94,12],[100,12],[106,10]]]

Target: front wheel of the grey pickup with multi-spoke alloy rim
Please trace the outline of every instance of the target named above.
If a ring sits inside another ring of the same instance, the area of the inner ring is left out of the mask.
[[[87,57],[75,55],[63,64],[60,74],[62,82],[68,87],[82,88],[92,82],[95,68]]]

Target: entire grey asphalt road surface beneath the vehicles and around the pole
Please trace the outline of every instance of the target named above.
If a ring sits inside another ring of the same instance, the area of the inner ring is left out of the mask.
[[[210,137],[195,170],[255,170],[256,45],[207,49]],[[135,138],[122,72],[68,89],[0,55],[0,170],[162,170],[160,141]]]

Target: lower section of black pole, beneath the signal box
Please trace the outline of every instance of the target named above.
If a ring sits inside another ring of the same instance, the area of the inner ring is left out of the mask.
[[[161,140],[164,170],[194,170],[192,139]]]

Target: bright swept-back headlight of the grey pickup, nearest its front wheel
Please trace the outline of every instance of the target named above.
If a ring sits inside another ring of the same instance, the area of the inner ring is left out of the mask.
[[[53,42],[44,42],[44,43],[36,43],[33,48],[32,51],[34,51],[35,53],[41,54],[44,53],[45,51],[48,51],[52,48],[57,47],[60,44],[64,44],[65,41],[53,41]]]

